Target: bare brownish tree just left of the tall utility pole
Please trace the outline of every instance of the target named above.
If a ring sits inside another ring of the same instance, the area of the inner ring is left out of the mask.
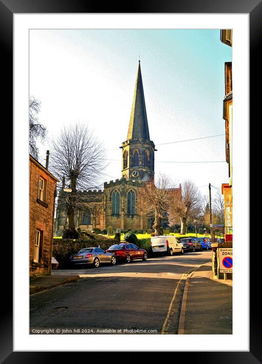
[[[169,208],[169,225],[181,224],[181,234],[186,232],[188,220],[198,217],[201,210],[201,195],[191,180],[185,180],[181,185],[181,193],[172,194]]]

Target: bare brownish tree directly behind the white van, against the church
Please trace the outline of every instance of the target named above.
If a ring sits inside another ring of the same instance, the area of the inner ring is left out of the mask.
[[[170,179],[165,174],[161,174],[142,189],[142,209],[147,216],[154,217],[155,235],[160,235],[160,221],[167,212],[173,188],[174,185]]]

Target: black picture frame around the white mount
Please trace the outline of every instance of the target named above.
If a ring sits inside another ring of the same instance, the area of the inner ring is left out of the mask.
[[[123,7],[124,5],[124,7]],[[101,12],[103,7],[103,12]],[[261,18],[262,3],[260,0],[220,0],[210,1],[202,0],[184,0],[175,2],[170,0],[140,1],[118,4],[108,2],[101,5],[100,2],[86,2],[81,0],[0,0],[0,32],[1,32],[1,50],[2,50],[2,87],[4,94],[2,96],[2,105],[7,110],[6,120],[11,127],[13,117],[13,14],[17,13],[246,13],[250,19],[250,120],[258,113],[260,93],[255,93],[255,82],[257,75],[261,74],[261,57],[258,54],[259,41],[261,39]],[[4,70],[4,72],[3,72]],[[256,77],[254,77],[256,73]],[[4,79],[3,79],[4,77]],[[3,122],[2,122],[3,123]],[[7,123],[6,123],[7,124]],[[2,124],[3,125],[3,124]],[[251,125],[250,125],[251,127]],[[250,132],[251,132],[250,128]],[[10,156],[11,154],[11,156]],[[12,159],[12,153],[6,155],[6,158]],[[12,172],[11,172],[12,174]],[[9,180],[9,178],[8,178]],[[9,183],[8,183],[9,184]],[[12,201],[9,200],[9,204]],[[9,247],[9,254],[10,254]],[[250,277],[257,277],[259,266],[259,255],[252,255],[252,264],[250,262]],[[2,316],[0,331],[0,360],[5,363],[42,363],[47,360],[56,361],[60,358],[59,352],[13,352],[13,301],[12,301],[12,270],[10,263],[7,264],[8,279],[2,280],[5,292],[5,299],[2,299]],[[6,271],[6,270],[5,270]],[[3,275],[3,270],[2,270]],[[258,283],[259,284],[259,283]],[[184,359],[192,358],[194,362],[204,363],[257,363],[262,362],[261,354],[261,321],[257,318],[260,312],[259,299],[252,298],[257,289],[255,279],[250,280],[250,351],[249,352],[176,352],[177,355],[183,355]],[[259,289],[260,291],[260,289]],[[8,293],[9,292],[9,293]],[[4,314],[3,314],[4,313]],[[150,351],[150,350],[149,350]],[[80,353],[79,353],[80,354]],[[103,353],[100,353],[103,360]],[[71,357],[70,353],[66,354]],[[86,354],[84,354],[86,355]],[[186,357],[185,357],[186,355]],[[87,359],[87,358],[86,358]]]

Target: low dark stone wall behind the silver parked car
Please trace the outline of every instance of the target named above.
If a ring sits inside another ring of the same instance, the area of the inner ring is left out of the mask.
[[[58,261],[58,268],[65,268],[67,267],[69,257],[72,254],[79,252],[80,249],[100,247],[101,249],[106,250],[114,244],[118,244],[118,241],[114,239],[53,239],[52,256]]]

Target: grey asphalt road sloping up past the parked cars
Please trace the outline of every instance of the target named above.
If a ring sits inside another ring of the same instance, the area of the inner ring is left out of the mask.
[[[188,252],[115,266],[54,270],[56,275],[82,279],[30,295],[30,333],[54,328],[47,333],[176,334],[185,279],[211,256],[211,251]]]

